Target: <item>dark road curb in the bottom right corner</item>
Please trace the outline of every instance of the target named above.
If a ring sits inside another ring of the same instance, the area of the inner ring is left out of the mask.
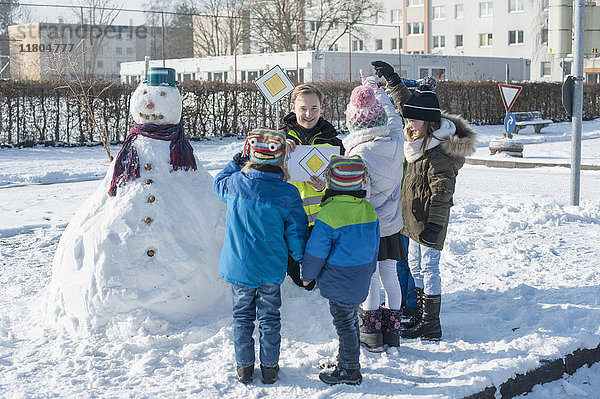
[[[502,399],[513,398],[531,392],[534,386],[560,380],[565,373],[573,375],[580,367],[592,366],[600,362],[600,344],[594,349],[577,349],[564,358],[541,360],[541,365],[525,374],[517,374],[513,378],[495,386],[486,387],[483,391],[465,396],[463,399],[495,399],[496,391],[500,391]]]

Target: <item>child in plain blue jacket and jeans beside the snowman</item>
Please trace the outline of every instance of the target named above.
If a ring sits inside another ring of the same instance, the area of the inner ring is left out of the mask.
[[[243,154],[214,180],[215,192],[227,203],[219,273],[231,283],[237,375],[245,384],[254,373],[257,318],[262,382],[277,381],[280,286],[288,254],[301,262],[306,243],[308,220],[298,189],[286,182],[284,158],[285,133],[256,129],[248,133]]]

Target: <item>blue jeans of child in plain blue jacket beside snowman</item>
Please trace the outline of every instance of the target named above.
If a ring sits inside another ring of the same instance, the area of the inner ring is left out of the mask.
[[[260,363],[275,367],[281,344],[281,291],[279,284],[263,284],[258,288],[231,285],[233,299],[233,345],[238,367],[254,364],[254,321],[258,314]]]

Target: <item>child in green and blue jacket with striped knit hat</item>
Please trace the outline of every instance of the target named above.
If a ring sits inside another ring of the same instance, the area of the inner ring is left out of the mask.
[[[302,278],[317,281],[339,338],[338,364],[323,371],[326,384],[362,382],[358,307],[369,293],[379,252],[379,220],[363,185],[366,167],[358,155],[332,155],[321,211],[306,244]]]

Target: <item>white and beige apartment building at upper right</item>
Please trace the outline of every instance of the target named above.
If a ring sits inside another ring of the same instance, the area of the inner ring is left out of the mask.
[[[548,50],[549,0],[384,0],[382,4],[384,11],[375,17],[374,26],[367,27],[365,51],[395,51],[399,42],[403,54],[526,58],[533,81],[563,81],[572,73],[571,55],[559,58]],[[400,26],[398,40],[390,37],[389,25]],[[586,59],[586,80],[598,81],[598,72],[598,59]]]

